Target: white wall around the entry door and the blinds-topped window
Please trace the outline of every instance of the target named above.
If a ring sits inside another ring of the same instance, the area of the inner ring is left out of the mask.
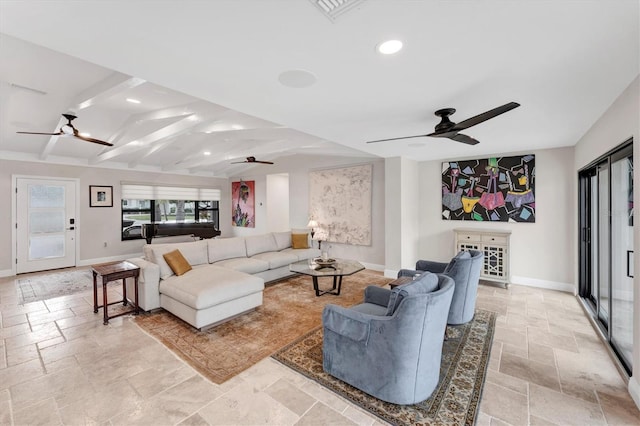
[[[198,185],[219,188],[220,226],[229,232],[231,209],[229,207],[230,185],[227,179],[203,178],[166,173],[146,173],[130,170],[113,170],[99,167],[67,166],[49,163],[0,160],[0,275],[8,275],[12,268],[11,247],[11,198],[12,175],[66,177],[80,180],[80,216],[77,219],[81,264],[95,263],[93,260],[123,257],[141,253],[144,240],[120,241],[120,182],[135,181],[154,184]],[[89,185],[113,186],[112,208],[89,207]],[[104,247],[104,242],[107,247]]]

